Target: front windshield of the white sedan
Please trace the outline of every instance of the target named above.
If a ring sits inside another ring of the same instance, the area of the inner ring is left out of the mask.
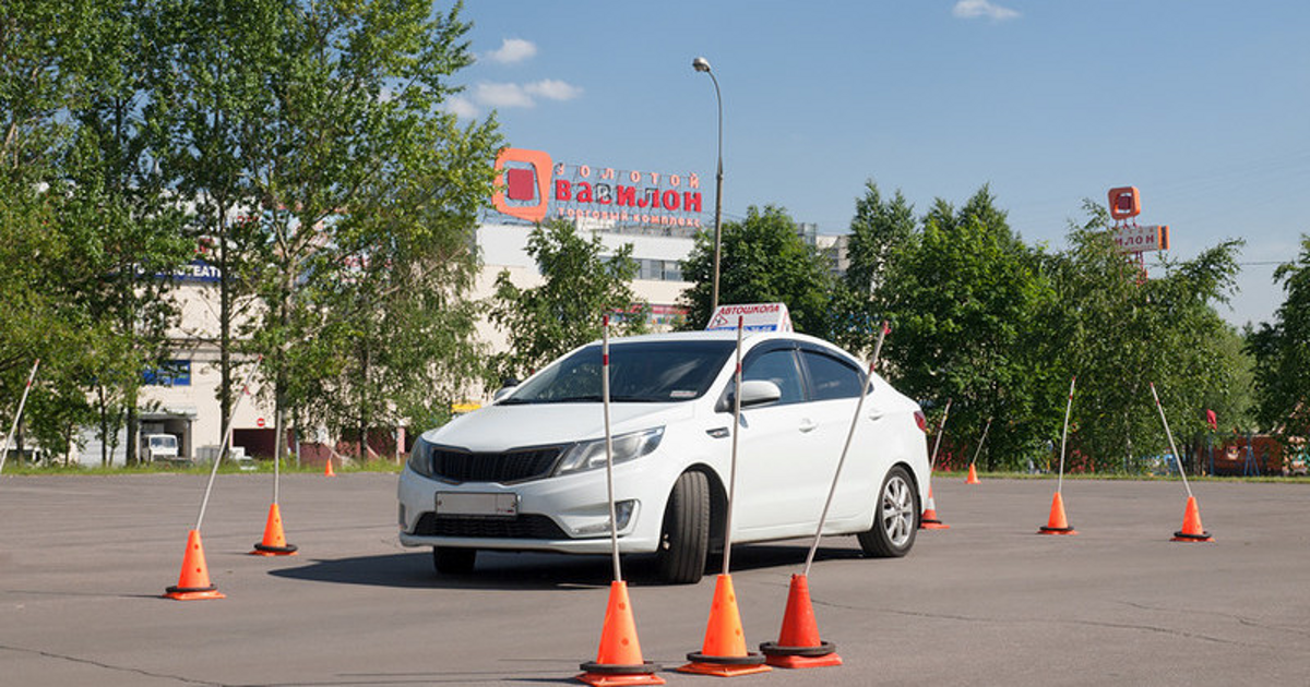
[[[668,403],[700,398],[735,342],[648,340],[609,347],[609,399]],[[575,351],[524,382],[502,403],[599,403],[600,344]]]

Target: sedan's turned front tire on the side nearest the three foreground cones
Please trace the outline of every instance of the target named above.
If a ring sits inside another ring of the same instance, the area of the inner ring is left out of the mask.
[[[700,582],[709,551],[710,480],[705,472],[683,472],[664,508],[655,555],[659,578],[675,585]]]

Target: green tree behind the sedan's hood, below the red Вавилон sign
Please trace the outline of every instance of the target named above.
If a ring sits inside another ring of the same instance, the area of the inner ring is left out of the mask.
[[[638,268],[631,243],[610,251],[599,234],[588,241],[571,222],[554,220],[532,229],[528,255],[542,284],[519,287],[502,271],[489,301],[490,319],[510,343],[507,352],[494,356],[489,383],[523,378],[599,339],[603,317],[618,315],[610,321],[613,336],[646,331],[647,306],[631,288]]]

